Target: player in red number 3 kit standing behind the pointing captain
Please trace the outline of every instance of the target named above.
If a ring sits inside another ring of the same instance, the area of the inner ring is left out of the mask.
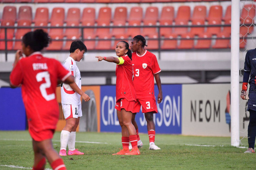
[[[140,111],[142,106],[142,113],[144,113],[149,137],[149,149],[159,150],[160,148],[155,145],[155,124],[153,120],[153,113],[158,113],[156,107],[156,98],[154,94],[154,77],[158,87],[157,103],[162,101],[162,87],[160,80],[160,67],[158,65],[156,55],[150,53],[144,46],[146,40],[143,36],[135,36],[132,39],[132,65],[134,69],[134,87],[136,90],[137,101],[134,106],[134,113],[132,116],[132,124],[136,128],[136,134],[138,138],[138,147],[142,147],[142,141],[138,134],[138,125],[135,121],[136,113]]]

